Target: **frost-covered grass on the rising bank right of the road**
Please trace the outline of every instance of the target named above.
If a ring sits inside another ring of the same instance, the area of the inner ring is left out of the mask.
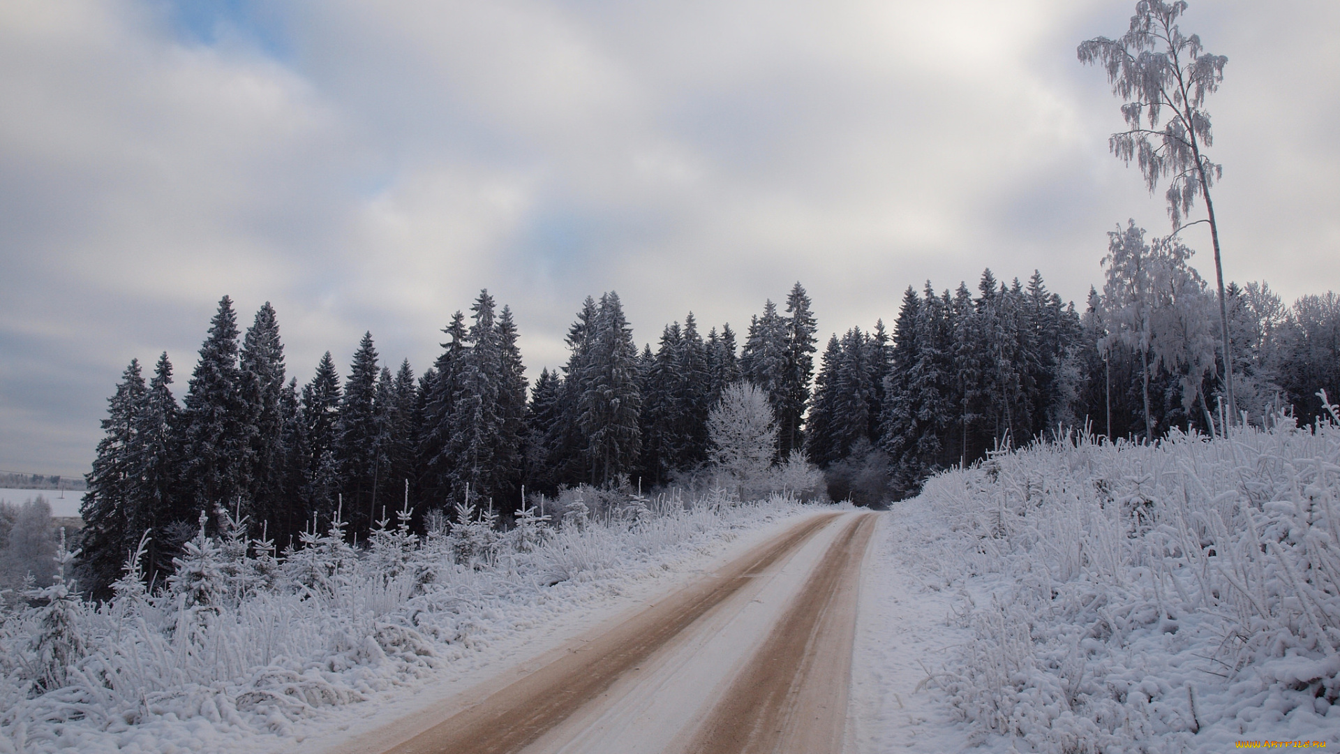
[[[1081,437],[927,482],[972,639],[930,682],[998,750],[1340,731],[1340,427]]]

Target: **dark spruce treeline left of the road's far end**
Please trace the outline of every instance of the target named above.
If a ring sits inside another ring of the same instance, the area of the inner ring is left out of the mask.
[[[327,352],[299,386],[273,307],[243,334],[224,297],[181,404],[166,353],[147,377],[131,361],[110,398],[80,507],[83,584],[107,589],[146,531],[146,576],[161,578],[200,513],[220,507],[283,549],[336,515],[366,542],[406,496],[419,525],[458,502],[505,519],[523,486],[665,484],[705,463],[708,415],[742,378],[765,386],[785,456],[813,376],[809,306],[797,283],[787,314],[769,302],[742,349],[729,325],[702,337],[689,314],[639,353],[618,294],[587,298],[567,365],[528,386],[511,309],[482,291],[421,377],[381,364],[364,334],[343,381]]]

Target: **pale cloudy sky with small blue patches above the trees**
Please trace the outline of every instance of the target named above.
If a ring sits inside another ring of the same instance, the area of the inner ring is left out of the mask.
[[[1340,290],[1340,4],[1197,0],[1225,274]],[[744,330],[801,280],[824,338],[902,291],[1167,232],[1075,47],[1131,0],[8,0],[0,468],[82,474],[133,357],[185,392],[218,298],[273,302],[289,373],[371,330],[415,372],[509,303],[532,373],[587,294],[641,342]],[[1203,225],[1201,227],[1203,228]],[[1187,232],[1213,274],[1207,233]],[[533,374],[532,374],[533,376]]]

